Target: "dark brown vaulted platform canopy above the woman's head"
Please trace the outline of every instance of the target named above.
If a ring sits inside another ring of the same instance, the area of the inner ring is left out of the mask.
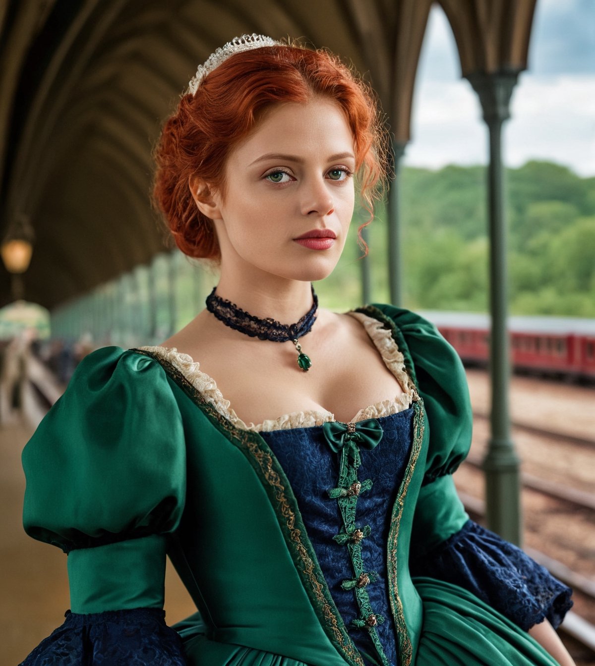
[[[462,74],[526,66],[535,0],[440,0]],[[24,296],[53,308],[165,248],[151,148],[187,81],[242,33],[302,37],[374,85],[394,139],[432,0],[9,0],[0,6],[0,239],[35,233]],[[0,268],[0,306],[10,302]]]

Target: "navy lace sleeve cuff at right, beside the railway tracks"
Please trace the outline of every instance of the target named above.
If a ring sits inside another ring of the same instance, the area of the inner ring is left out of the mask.
[[[464,587],[525,631],[548,619],[554,629],[572,607],[572,590],[516,545],[469,520],[411,563],[424,575]]]

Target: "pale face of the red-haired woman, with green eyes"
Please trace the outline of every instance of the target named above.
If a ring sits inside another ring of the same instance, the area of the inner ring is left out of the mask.
[[[274,107],[230,153],[225,193],[206,214],[222,272],[320,280],[338,262],[354,206],[354,143],[329,99]],[[205,212],[205,210],[203,210]],[[308,232],[325,238],[298,240]]]

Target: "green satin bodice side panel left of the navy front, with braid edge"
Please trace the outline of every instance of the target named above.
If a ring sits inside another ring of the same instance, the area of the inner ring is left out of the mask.
[[[169,556],[207,626],[193,663],[218,664],[205,655],[221,653],[225,643],[344,666],[336,637],[320,620],[338,613],[330,595],[316,595],[324,579],[283,470],[259,434],[229,430],[212,408],[197,410],[185,389],[192,391],[171,386],[187,441],[197,444],[187,458],[195,482]]]

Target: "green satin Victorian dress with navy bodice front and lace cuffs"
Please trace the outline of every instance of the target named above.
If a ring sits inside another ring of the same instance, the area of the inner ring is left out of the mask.
[[[403,394],[242,422],[173,348],[101,348],[25,447],[25,530],[71,611],[25,666],[548,666],[570,589],[468,519],[464,370],[420,316],[364,326]],[[357,386],[353,387],[357,391]],[[168,627],[169,555],[197,613]]]

